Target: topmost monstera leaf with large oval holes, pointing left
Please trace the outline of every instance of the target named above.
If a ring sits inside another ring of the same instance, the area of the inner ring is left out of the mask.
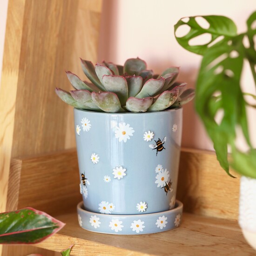
[[[207,22],[209,22],[209,28],[205,29],[202,28],[195,20],[196,17],[202,17]],[[224,16],[216,16],[216,15],[209,15],[209,16],[194,16],[194,17],[188,17],[189,21],[184,22],[179,20],[177,24],[174,26],[175,28],[175,37],[178,43],[184,47],[186,50],[195,53],[195,54],[205,54],[205,52],[209,48],[209,44],[216,40],[219,36],[224,36],[224,39],[229,40],[232,37],[236,36],[236,24],[230,20],[227,17]],[[176,31],[179,27],[186,25],[190,27],[190,31],[188,34],[186,34],[183,37],[177,37]],[[211,40],[204,44],[204,45],[195,45],[191,46],[189,45],[189,40],[205,34],[209,33],[211,34]]]

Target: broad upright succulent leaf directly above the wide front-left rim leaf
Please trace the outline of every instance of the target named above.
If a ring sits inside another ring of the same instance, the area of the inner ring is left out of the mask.
[[[125,106],[128,99],[128,86],[127,81],[120,75],[103,75],[102,83],[107,91],[115,93],[121,106]]]

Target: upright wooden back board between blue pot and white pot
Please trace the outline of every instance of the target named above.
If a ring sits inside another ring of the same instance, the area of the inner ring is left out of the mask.
[[[183,148],[177,198],[187,212],[236,220],[240,178],[234,175],[225,173],[215,153]]]

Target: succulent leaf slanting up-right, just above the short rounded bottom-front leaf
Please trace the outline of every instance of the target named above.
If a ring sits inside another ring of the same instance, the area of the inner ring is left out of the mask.
[[[149,79],[146,81],[144,86],[141,89],[141,92],[136,95],[136,98],[146,98],[146,97],[152,97],[155,96],[158,92],[161,91],[163,85],[164,85],[164,78],[159,79]]]

